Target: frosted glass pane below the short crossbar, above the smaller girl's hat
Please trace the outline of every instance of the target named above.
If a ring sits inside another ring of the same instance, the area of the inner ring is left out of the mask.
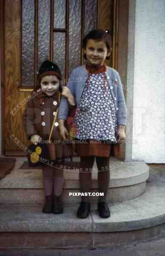
[[[62,80],[65,79],[65,33],[54,32],[53,61],[59,66],[59,69],[61,70]]]

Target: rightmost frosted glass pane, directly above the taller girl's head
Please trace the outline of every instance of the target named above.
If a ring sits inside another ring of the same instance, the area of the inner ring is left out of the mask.
[[[97,0],[85,0],[84,35],[92,29],[96,29],[97,24]]]

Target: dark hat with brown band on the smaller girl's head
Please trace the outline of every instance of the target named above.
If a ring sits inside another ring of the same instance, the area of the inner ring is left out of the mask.
[[[62,74],[59,67],[53,61],[44,61],[39,68],[38,80],[44,76],[57,76],[59,80],[62,80]]]

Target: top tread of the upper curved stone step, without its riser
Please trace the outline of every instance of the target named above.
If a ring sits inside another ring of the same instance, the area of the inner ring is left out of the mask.
[[[20,169],[23,161],[17,160],[12,172],[0,180],[0,189],[42,189],[42,169]],[[143,183],[149,177],[149,167],[145,162],[121,162],[110,158],[109,188],[131,186]],[[64,167],[64,166],[63,166]],[[98,188],[96,164],[92,169],[92,188]],[[64,169],[65,189],[79,189],[79,172]]]

